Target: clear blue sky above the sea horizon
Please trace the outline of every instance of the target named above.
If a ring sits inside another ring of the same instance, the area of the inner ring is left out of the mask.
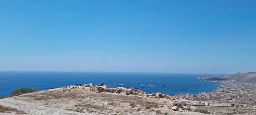
[[[256,71],[256,0],[0,0],[0,70]]]

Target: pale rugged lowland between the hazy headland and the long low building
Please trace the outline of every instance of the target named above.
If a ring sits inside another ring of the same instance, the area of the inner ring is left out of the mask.
[[[252,107],[256,106],[256,83],[225,82],[214,92],[181,93],[175,97],[202,102],[246,104]]]

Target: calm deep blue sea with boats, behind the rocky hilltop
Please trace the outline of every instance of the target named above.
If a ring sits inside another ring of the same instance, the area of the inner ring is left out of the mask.
[[[220,83],[197,80],[203,74],[176,73],[124,73],[124,72],[13,72],[0,71],[0,96],[4,97],[17,88],[48,90],[52,87],[105,83],[107,87],[137,87],[147,93],[162,92],[175,95],[182,92],[212,92]],[[209,74],[212,75],[212,74]],[[217,75],[215,75],[217,76]],[[162,86],[168,82],[167,86]],[[136,84],[140,83],[140,84]],[[144,85],[144,87],[140,87]]]

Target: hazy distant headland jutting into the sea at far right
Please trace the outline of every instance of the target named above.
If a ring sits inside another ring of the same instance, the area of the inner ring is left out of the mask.
[[[203,81],[221,82],[221,81],[256,81],[256,72],[221,74],[219,77],[200,76],[198,79]]]

